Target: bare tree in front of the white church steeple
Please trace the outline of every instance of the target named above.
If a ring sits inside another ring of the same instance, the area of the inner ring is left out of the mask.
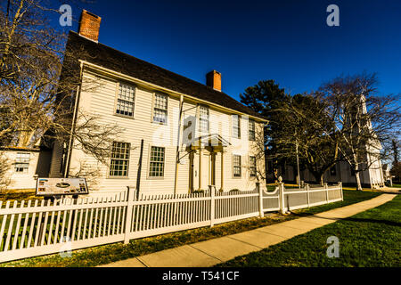
[[[336,128],[341,159],[348,161],[362,190],[360,174],[389,155],[389,142],[399,132],[399,104],[394,95],[379,95],[375,74],[338,77],[316,93],[327,102]],[[322,130],[331,134],[322,126]],[[330,136],[328,136],[330,137]]]

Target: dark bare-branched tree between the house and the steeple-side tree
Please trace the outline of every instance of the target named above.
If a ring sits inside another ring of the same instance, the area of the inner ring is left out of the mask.
[[[340,160],[335,127],[326,113],[327,102],[311,93],[296,94],[277,105],[281,130],[276,135],[276,155],[296,168],[298,152],[300,167],[306,167],[316,183],[323,184],[324,173]]]

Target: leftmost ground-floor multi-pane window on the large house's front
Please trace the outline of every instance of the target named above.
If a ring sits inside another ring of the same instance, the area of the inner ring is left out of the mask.
[[[113,142],[111,149],[110,176],[128,176],[129,142]]]

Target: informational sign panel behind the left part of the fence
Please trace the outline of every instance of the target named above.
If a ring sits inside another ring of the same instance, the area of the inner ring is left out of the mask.
[[[37,178],[37,195],[89,194],[85,178]]]

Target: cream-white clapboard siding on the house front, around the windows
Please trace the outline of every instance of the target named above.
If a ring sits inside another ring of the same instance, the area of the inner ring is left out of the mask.
[[[128,177],[110,178],[109,166],[103,165],[94,157],[87,155],[83,151],[73,148],[71,152],[70,175],[76,175],[82,168],[96,169],[99,176],[96,183],[90,182],[89,187],[102,191],[125,191],[127,186],[135,186],[138,175],[138,164],[140,157],[141,140],[143,139],[143,165],[141,170],[140,191],[149,193],[168,193],[174,191],[176,175],[176,142],[179,118],[179,97],[168,94],[168,124],[159,125],[152,123],[152,108],[154,91],[136,85],[135,89],[135,114],[133,118],[123,118],[114,115],[116,96],[118,92],[119,80],[108,77],[94,77],[92,73],[85,72],[84,80],[97,80],[99,87],[91,90],[82,90],[78,102],[79,111],[94,114],[100,124],[117,124],[121,129],[118,140],[120,142],[130,142],[130,160]],[[127,83],[127,82],[125,82]],[[85,89],[85,88],[84,88]],[[188,116],[197,116],[198,103],[184,100],[183,104],[183,123]],[[224,184],[225,190],[233,188],[241,190],[251,190],[255,188],[255,179],[250,179],[248,171],[248,157],[251,153],[251,144],[248,141],[248,119],[241,118],[241,139],[232,137],[232,114],[210,107],[210,130],[208,134],[220,134],[225,140],[231,143],[224,154]],[[195,136],[204,135],[196,127]],[[183,143],[183,127],[180,132],[181,155],[185,154]],[[151,146],[165,147],[165,169],[164,177],[149,177],[149,159]],[[241,166],[243,167],[241,178],[233,178],[233,153],[241,155]],[[56,156],[58,151],[54,151]],[[53,158],[54,168],[60,167],[59,159]],[[217,188],[221,185],[221,157],[217,153],[216,160],[216,184]],[[199,154],[194,157],[194,170],[199,174]],[[177,173],[177,192],[187,192],[189,190],[189,158],[186,163],[178,165]],[[263,165],[264,167],[264,165]],[[197,187],[198,177],[194,178],[194,186]],[[208,182],[203,183],[203,188],[207,188]]]

